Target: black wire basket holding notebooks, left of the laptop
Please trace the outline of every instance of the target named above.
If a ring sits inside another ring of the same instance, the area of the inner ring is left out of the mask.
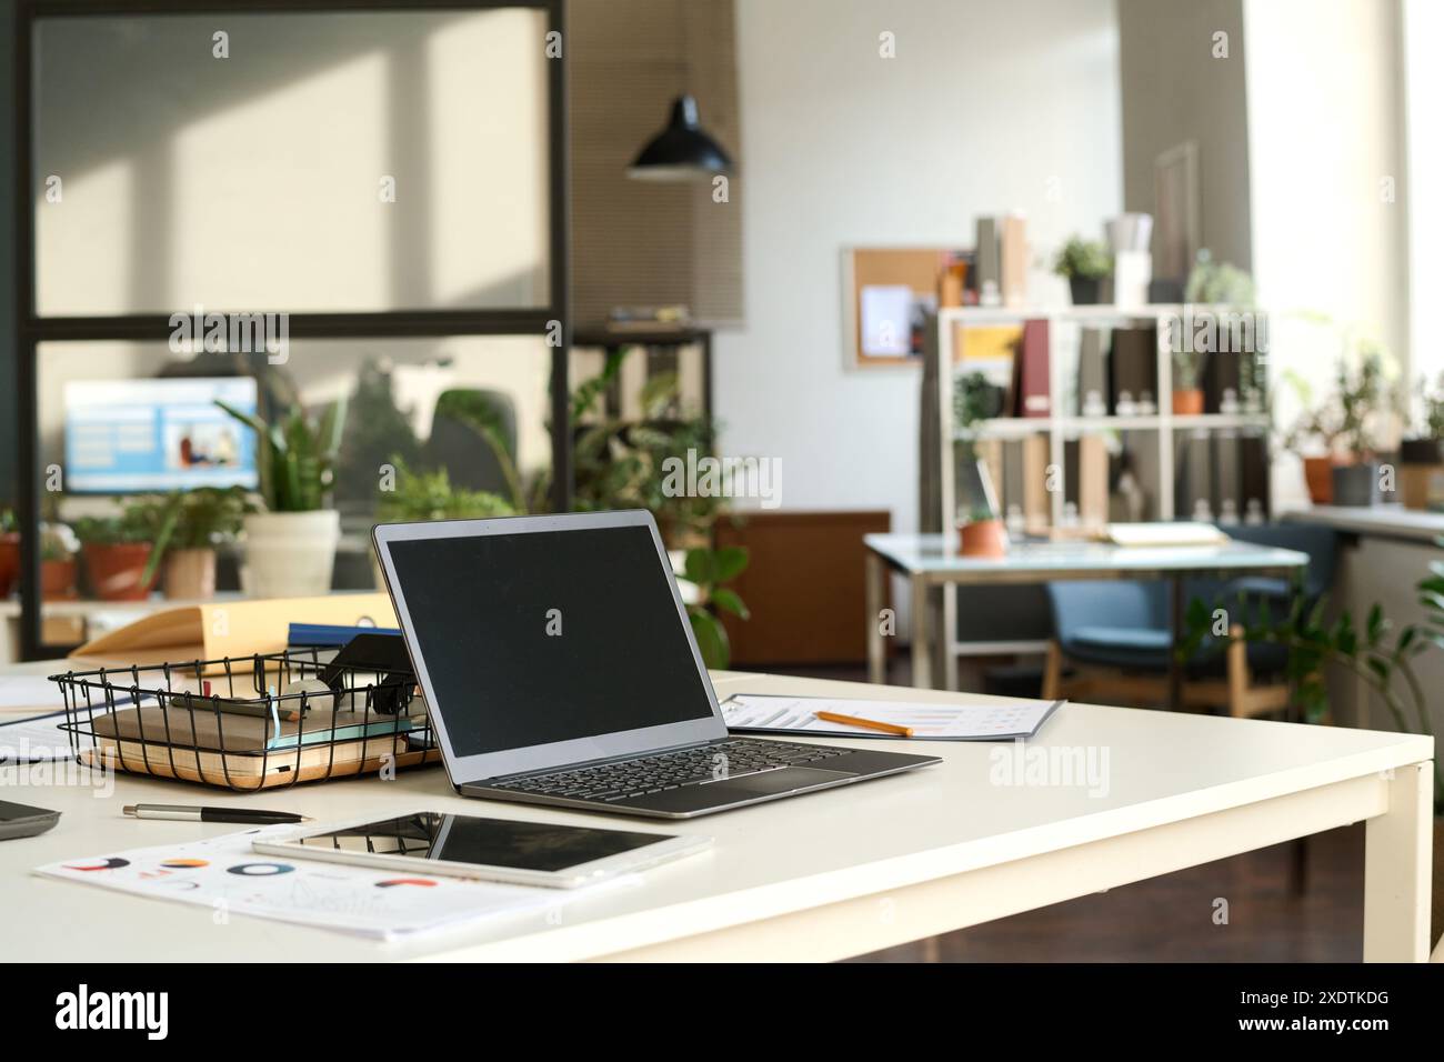
[[[77,760],[238,792],[440,760],[410,672],[290,649],[52,675]]]

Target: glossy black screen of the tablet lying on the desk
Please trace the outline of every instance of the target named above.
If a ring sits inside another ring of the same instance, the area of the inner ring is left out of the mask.
[[[313,834],[297,844],[305,848],[409,855],[433,863],[563,871],[667,839],[671,835],[422,812]]]

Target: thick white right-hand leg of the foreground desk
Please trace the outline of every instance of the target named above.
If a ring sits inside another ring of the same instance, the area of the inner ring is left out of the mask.
[[[1432,793],[1432,763],[1399,767],[1389,780],[1389,811],[1365,826],[1365,962],[1430,957]]]

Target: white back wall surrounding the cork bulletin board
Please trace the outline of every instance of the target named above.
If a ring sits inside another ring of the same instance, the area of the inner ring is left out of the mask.
[[[1122,204],[1113,3],[738,0],[736,16],[747,328],[716,342],[723,448],[780,458],[787,509],[884,507],[915,529],[920,371],[845,370],[842,249],[967,247],[976,215],[1011,208],[1038,256],[1100,234]]]

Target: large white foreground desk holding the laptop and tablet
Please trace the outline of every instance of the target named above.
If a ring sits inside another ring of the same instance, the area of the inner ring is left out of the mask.
[[[29,665],[36,668],[36,665]],[[40,668],[43,670],[43,666]],[[967,694],[719,673],[718,692],[956,701]],[[944,763],[676,824],[455,796],[440,769],[232,796],[131,776],[97,799],[16,786],[64,811],[52,832],[0,842],[0,958],[55,961],[838,959],[1367,819],[1367,959],[1427,958],[1432,740],[1331,727],[1064,705],[1028,748],[1106,750],[1108,792],[1001,786],[983,743],[917,743]],[[560,925],[383,945],[32,876],[32,867],[234,826],[129,821],[139,800],[238,803],[335,819],[433,808],[709,834],[715,848],[579,900]],[[1077,958],[1087,958],[1079,955]]]

